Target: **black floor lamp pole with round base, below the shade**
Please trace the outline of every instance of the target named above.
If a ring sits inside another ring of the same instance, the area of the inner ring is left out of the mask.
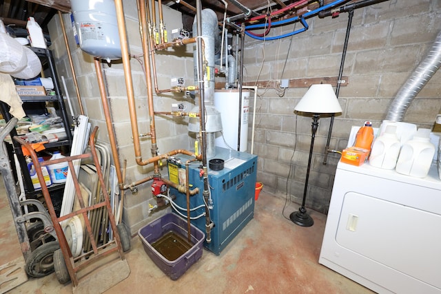
[[[311,216],[309,216],[305,209],[305,201],[308,190],[309,169],[311,169],[312,150],[314,149],[314,138],[316,138],[319,119],[319,114],[313,114],[311,124],[311,147],[309,148],[308,167],[306,171],[305,189],[303,190],[302,206],[298,209],[298,211],[294,211],[289,215],[289,219],[294,222],[294,224],[298,224],[301,227],[311,227],[314,224],[314,220],[311,218]]]

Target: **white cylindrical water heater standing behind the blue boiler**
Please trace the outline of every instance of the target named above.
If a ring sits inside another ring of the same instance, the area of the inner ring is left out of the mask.
[[[214,92],[214,107],[222,118],[222,133],[216,133],[215,145],[228,149],[247,151],[249,92],[242,92],[242,105],[239,112],[238,90],[216,90]],[[240,113],[240,141],[238,140],[238,126]]]

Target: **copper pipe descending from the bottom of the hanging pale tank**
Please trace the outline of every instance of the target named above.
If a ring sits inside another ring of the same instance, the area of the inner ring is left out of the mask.
[[[121,191],[121,203],[123,203],[124,190],[121,189],[121,187],[124,185],[124,177],[123,174],[121,174],[121,165],[119,164],[118,149],[116,148],[116,138],[115,138],[114,129],[112,127],[112,116],[110,115],[110,107],[109,107],[109,103],[107,103],[107,95],[105,94],[105,85],[104,85],[103,72],[101,70],[101,63],[99,59],[97,59],[96,57],[94,58],[94,64],[95,64],[96,78],[98,78],[98,87],[99,87],[99,93],[101,95],[101,103],[103,103],[105,125],[107,126],[107,133],[109,134],[110,148],[112,149],[112,156],[116,170],[116,178],[118,178],[118,184]]]

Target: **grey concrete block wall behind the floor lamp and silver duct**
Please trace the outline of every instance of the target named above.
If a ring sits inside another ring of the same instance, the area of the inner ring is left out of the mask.
[[[264,42],[247,36],[243,81],[338,76],[347,19],[347,13],[334,19],[307,19],[309,30],[292,40]],[[271,36],[290,32],[293,27],[271,28]],[[331,149],[341,151],[347,146],[352,125],[371,120],[374,127],[380,126],[391,101],[440,31],[439,1],[386,1],[354,11],[343,70],[343,75],[349,76],[349,85],[340,87],[343,112],[334,120]],[[438,70],[407,109],[404,122],[433,127],[441,110],[440,81]],[[280,97],[275,89],[260,89],[254,109],[258,181],[266,191],[289,196],[296,203],[302,201],[311,143],[311,118],[294,114],[305,92],[306,87],[289,88]],[[320,118],[319,122],[306,206],[327,213],[340,155],[329,154],[327,165],[322,164],[330,119]]]

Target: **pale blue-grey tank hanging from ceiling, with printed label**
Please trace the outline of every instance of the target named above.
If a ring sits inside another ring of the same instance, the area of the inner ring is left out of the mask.
[[[121,59],[114,1],[72,0],[71,6],[81,50],[107,62]]]

